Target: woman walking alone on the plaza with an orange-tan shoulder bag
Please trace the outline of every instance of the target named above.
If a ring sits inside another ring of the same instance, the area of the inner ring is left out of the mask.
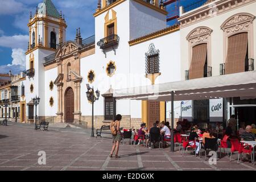
[[[110,124],[110,128],[112,127],[115,127],[115,130],[117,131],[116,132],[116,135],[113,135],[113,147],[112,147],[112,150],[110,152],[110,158],[112,158],[112,155],[115,151],[115,158],[119,158],[118,156],[118,150],[119,150],[119,144],[122,140],[122,134],[121,134],[121,130],[120,130],[120,122],[121,122],[121,119],[122,119],[122,115],[120,114],[117,114],[114,118],[114,121],[111,122]]]

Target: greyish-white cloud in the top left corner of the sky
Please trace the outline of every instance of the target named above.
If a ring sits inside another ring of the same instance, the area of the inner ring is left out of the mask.
[[[15,0],[0,0],[0,5],[0,15],[17,14],[24,10],[23,4]]]

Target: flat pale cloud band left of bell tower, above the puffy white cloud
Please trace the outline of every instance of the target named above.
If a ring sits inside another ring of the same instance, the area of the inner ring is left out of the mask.
[[[9,47],[9,48],[22,48],[27,49],[29,41],[28,35],[13,35],[13,36],[1,36],[0,37],[0,46]]]

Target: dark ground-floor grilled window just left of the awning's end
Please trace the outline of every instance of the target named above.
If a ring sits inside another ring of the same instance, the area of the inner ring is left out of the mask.
[[[113,117],[115,115],[115,98],[105,97],[104,113],[105,113],[105,120],[114,119]]]

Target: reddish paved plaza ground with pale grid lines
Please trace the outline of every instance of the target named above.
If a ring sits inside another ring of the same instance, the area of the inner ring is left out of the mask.
[[[0,170],[256,170],[249,162],[237,164],[237,154],[210,165],[185,152],[170,148],[149,149],[121,144],[121,158],[109,158],[112,139],[90,138],[90,130],[49,127],[35,131],[34,125],[9,123],[0,126]],[[38,152],[46,152],[46,165],[38,164]]]

